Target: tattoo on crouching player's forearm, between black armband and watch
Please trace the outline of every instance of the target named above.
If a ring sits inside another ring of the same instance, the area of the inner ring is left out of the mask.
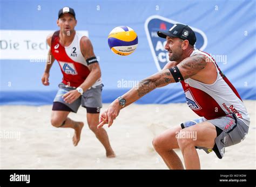
[[[137,88],[135,89],[138,91],[138,96],[142,97],[150,91],[158,87],[163,87],[172,82],[174,82],[174,79],[170,71],[168,69],[165,69],[149,78],[140,81]]]

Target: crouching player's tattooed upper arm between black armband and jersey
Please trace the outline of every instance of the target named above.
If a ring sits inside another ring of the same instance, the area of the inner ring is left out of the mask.
[[[198,71],[202,70],[206,66],[206,56],[204,55],[195,55],[191,57],[187,57],[183,61],[181,61],[177,67],[180,70],[181,75],[184,79],[189,78],[198,73]]]

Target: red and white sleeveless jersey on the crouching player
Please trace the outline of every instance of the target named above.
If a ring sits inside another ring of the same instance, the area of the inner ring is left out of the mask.
[[[215,60],[209,54],[199,50],[194,50],[190,56],[196,54],[207,56],[215,65],[218,76],[213,84],[205,84],[192,78],[181,81],[190,109],[207,120],[231,113],[235,113],[241,120],[250,120],[237,90],[221,72]]]

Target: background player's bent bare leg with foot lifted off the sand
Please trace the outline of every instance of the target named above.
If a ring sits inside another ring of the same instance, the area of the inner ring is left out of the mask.
[[[78,142],[80,141],[80,135],[84,123],[80,121],[73,121],[72,119],[68,118],[69,113],[70,112],[68,111],[52,111],[51,124],[55,127],[73,128],[73,130],[75,130],[72,139],[73,145],[77,146]]]

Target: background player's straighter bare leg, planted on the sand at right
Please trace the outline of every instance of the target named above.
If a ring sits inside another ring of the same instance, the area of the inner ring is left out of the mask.
[[[106,149],[106,157],[113,158],[116,157],[113,149],[110,146],[109,137],[107,136],[104,128],[97,128],[99,124],[99,113],[87,113],[87,122],[90,130],[95,133],[97,139],[102,143]]]

